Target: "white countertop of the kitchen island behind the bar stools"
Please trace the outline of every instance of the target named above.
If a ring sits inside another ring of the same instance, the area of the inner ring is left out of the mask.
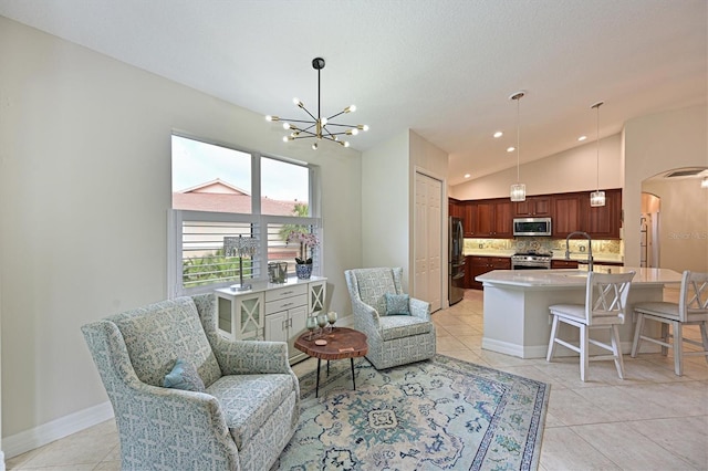
[[[633,284],[665,284],[680,283],[681,274],[668,269],[643,269],[637,266],[603,266],[595,270],[601,273],[636,274]],[[475,280],[491,285],[525,286],[525,287],[563,287],[582,286],[587,280],[586,270],[494,270]]]

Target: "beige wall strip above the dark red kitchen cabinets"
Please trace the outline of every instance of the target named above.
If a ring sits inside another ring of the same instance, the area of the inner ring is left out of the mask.
[[[516,161],[516,157],[514,157]],[[600,187],[622,188],[622,136],[600,139]],[[597,144],[595,142],[544,157],[520,167],[527,195],[592,191],[597,186]],[[517,182],[517,167],[476,178],[449,189],[450,197],[466,199],[504,198]],[[589,197],[590,198],[590,197]]]

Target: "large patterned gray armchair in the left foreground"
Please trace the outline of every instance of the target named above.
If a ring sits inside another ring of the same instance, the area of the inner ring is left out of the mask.
[[[122,469],[268,470],[290,441],[300,386],[287,344],[227,341],[216,316],[208,294],[82,327],[115,411]]]

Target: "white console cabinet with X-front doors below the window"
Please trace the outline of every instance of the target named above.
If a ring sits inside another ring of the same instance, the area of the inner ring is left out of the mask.
[[[250,290],[215,290],[219,333],[233,341],[288,343],[290,363],[306,357],[294,348],[309,315],[325,307],[326,278],[289,279],[285,283],[254,282]]]

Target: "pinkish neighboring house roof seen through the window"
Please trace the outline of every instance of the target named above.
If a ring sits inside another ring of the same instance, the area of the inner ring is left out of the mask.
[[[301,201],[280,201],[261,198],[261,213],[293,216]],[[251,212],[251,196],[223,180],[216,179],[173,193],[173,209],[211,212]]]

